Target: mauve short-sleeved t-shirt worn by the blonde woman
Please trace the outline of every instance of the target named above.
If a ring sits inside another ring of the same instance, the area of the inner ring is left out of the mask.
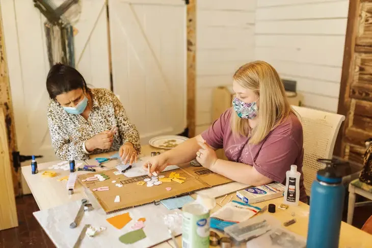
[[[297,116],[291,113],[263,141],[257,145],[248,144],[249,137],[234,136],[231,130],[232,108],[227,109],[201,136],[207,144],[224,149],[230,161],[249,164],[256,171],[275,182],[285,185],[286,171],[296,164],[301,173],[300,201],[307,202],[302,173],[303,133]]]

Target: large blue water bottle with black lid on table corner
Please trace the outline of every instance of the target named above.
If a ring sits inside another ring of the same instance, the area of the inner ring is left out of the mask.
[[[345,188],[335,169],[335,160],[326,163],[311,185],[310,216],[306,248],[337,248],[340,236]]]

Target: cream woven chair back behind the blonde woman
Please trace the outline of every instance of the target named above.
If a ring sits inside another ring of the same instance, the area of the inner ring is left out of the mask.
[[[316,172],[324,168],[318,158],[332,158],[338,130],[345,117],[307,107],[291,106],[299,115],[304,135],[304,185],[310,196]]]

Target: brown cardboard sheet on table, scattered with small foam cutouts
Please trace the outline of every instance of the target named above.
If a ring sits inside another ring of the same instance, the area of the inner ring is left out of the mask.
[[[162,184],[152,187],[147,187],[146,183],[143,185],[138,184],[138,182],[143,182],[144,179],[148,178],[147,176],[128,178],[123,174],[115,175],[114,172],[117,172],[117,170],[104,171],[103,173],[110,177],[110,179],[104,181],[85,181],[86,178],[94,177],[97,174],[95,172],[78,176],[78,182],[93,192],[93,195],[106,213],[187,195],[197,190],[231,182],[230,179],[202,167],[190,168],[187,166],[162,172],[160,176],[165,178],[174,172],[184,177],[185,180],[183,183],[173,180],[171,182],[162,182]],[[116,182],[112,183],[112,181]],[[119,187],[117,184],[122,186]],[[109,186],[109,190],[100,190],[102,187],[107,186]],[[171,190],[167,190],[167,188],[171,188]],[[114,202],[116,196],[120,196],[120,202]]]

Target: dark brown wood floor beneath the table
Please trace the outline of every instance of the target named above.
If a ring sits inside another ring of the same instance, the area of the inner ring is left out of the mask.
[[[16,203],[19,226],[0,231],[0,248],[55,247],[32,214],[39,210],[34,197],[32,195],[19,197]],[[346,221],[346,211],[343,215],[343,221]],[[353,226],[361,228],[371,215],[372,207],[370,206],[356,208]]]

